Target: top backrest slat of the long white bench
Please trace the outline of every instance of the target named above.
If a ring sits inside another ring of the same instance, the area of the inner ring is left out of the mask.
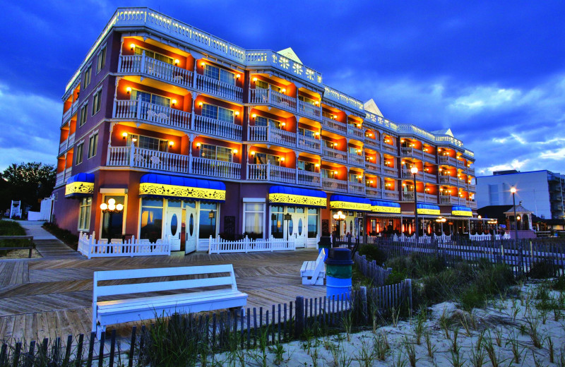
[[[105,270],[94,272],[95,280],[136,279],[147,277],[174,277],[175,275],[201,275],[216,272],[234,272],[232,264],[183,267],[154,267],[153,269]]]

